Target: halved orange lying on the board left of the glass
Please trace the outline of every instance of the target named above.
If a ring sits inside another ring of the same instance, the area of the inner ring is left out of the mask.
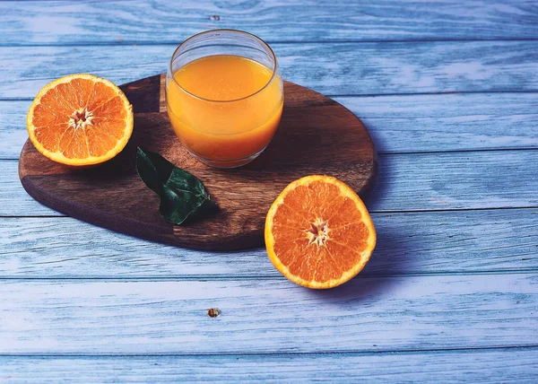
[[[45,85],[31,104],[30,141],[48,159],[71,166],[107,161],[133,133],[133,107],[114,83],[71,74]]]

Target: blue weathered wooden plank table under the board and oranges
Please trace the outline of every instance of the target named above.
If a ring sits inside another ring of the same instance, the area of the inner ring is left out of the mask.
[[[170,3],[0,1],[0,382],[536,382],[538,2]],[[22,189],[40,87],[162,73],[215,28],[268,41],[373,135],[377,249],[350,283],[310,291],[265,249],[137,240]]]

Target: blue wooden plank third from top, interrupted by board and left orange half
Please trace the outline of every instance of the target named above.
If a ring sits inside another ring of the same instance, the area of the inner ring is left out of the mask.
[[[537,93],[336,97],[368,127],[378,153],[538,148]],[[30,100],[0,101],[0,159],[28,138]]]

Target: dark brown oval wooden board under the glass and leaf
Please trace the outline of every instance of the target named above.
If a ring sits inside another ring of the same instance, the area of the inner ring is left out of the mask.
[[[282,122],[255,161],[217,170],[196,161],[179,143],[166,114],[164,75],[121,88],[134,107],[134,132],[111,161],[72,170],[49,161],[27,141],[19,175],[40,203],[63,214],[142,239],[193,249],[245,249],[264,243],[265,214],[294,179],[326,174],[342,179],[361,196],[377,173],[377,155],[368,130],[336,101],[294,83],[284,83]],[[159,197],[134,170],[136,147],[161,153],[204,182],[219,210],[181,226],[165,222]]]

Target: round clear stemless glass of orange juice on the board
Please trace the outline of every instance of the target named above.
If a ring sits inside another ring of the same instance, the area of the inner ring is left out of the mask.
[[[213,167],[239,167],[256,159],[273,138],[283,100],[273,49],[250,33],[199,33],[170,60],[171,125],[187,150]]]

